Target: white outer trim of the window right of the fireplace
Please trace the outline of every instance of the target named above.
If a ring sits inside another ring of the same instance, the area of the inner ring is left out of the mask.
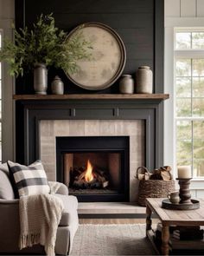
[[[164,43],[164,93],[169,94],[169,100],[164,102],[164,165],[173,167],[174,177],[177,177],[175,163],[175,28],[197,30],[203,28],[204,18],[200,17],[166,17]],[[185,50],[183,50],[183,55]],[[192,50],[193,54],[193,50]],[[191,181],[191,189],[204,189],[204,179]]]

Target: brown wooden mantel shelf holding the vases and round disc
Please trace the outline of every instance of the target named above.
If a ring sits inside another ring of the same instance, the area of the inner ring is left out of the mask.
[[[14,100],[166,100],[169,94],[13,95]]]

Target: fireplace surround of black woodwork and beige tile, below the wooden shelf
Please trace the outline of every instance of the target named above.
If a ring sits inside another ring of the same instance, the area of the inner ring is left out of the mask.
[[[129,136],[130,202],[137,200],[137,167],[163,164],[163,99],[20,99],[16,113],[16,161],[41,159],[50,181],[56,181],[57,136]]]

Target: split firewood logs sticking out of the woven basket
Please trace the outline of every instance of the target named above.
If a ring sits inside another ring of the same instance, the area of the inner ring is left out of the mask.
[[[171,167],[164,166],[158,169],[154,169],[152,173],[149,172],[147,167],[138,167],[137,168],[137,179],[139,181],[148,181],[148,180],[162,180],[170,181],[172,180],[172,174],[170,173]]]

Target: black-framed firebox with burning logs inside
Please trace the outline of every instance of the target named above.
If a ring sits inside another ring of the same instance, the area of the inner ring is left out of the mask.
[[[129,201],[129,136],[56,137],[57,181],[79,201]]]

